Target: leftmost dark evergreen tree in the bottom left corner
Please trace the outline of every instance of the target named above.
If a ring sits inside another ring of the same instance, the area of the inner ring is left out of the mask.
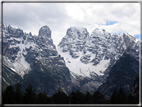
[[[15,91],[12,85],[7,86],[2,94],[3,104],[15,104]]]

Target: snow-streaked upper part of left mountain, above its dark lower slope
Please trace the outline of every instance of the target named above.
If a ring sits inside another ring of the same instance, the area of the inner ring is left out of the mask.
[[[6,25],[3,29],[4,62],[22,77],[31,70],[30,63],[34,58],[44,62],[47,57],[58,57],[48,26],[43,26],[38,36]],[[62,59],[59,61],[64,63]]]

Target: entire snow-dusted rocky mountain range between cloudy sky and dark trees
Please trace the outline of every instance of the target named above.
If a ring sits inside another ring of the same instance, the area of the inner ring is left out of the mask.
[[[130,93],[139,76],[141,42],[128,33],[96,28],[89,34],[86,28],[70,27],[56,47],[47,25],[33,36],[3,24],[2,44],[3,89],[31,83],[37,93],[49,96],[58,88],[110,96],[120,87]]]

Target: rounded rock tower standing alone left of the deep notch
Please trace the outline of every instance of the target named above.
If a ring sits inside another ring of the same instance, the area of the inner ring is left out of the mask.
[[[41,27],[39,30],[39,36],[45,36],[45,37],[51,38],[50,28],[47,25]]]

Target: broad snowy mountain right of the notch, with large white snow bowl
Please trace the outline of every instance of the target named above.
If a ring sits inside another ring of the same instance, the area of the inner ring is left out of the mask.
[[[74,83],[89,78],[81,87],[97,89],[128,47],[139,54],[139,41],[128,33],[110,34],[96,28],[89,35],[86,28],[70,27],[57,50],[64,57]]]

